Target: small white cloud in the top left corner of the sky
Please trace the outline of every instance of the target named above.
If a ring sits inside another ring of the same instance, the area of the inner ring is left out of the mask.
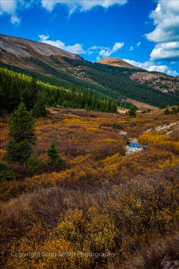
[[[17,10],[28,9],[35,3],[35,0],[1,0],[1,11],[0,14],[6,14],[10,16],[12,24],[18,25],[21,22]]]

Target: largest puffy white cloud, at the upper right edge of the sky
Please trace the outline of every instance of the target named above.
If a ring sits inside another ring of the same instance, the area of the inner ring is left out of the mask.
[[[155,29],[145,34],[148,40],[156,43],[150,59],[176,60],[178,58],[179,9],[178,1],[158,1],[149,17]]]

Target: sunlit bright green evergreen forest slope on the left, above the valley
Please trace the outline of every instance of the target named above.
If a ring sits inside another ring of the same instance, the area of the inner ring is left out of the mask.
[[[117,112],[115,100],[97,94],[78,91],[75,88],[64,89],[44,84],[33,75],[29,77],[6,68],[1,68],[1,108],[12,112],[23,100],[27,109],[31,110],[37,102],[46,106],[63,106],[94,110],[101,112]]]

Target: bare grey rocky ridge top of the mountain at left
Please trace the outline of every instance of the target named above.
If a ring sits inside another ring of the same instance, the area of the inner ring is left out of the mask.
[[[80,59],[77,54],[59,49],[49,44],[14,37],[10,35],[0,35],[1,49],[14,54],[16,57],[32,57],[34,51],[44,56],[59,55],[71,59]]]

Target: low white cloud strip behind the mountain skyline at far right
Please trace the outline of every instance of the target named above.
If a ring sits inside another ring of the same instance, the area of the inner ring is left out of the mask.
[[[129,60],[129,59],[123,59],[128,64],[141,67],[143,69],[146,69],[148,71],[158,71],[162,73],[166,73],[171,76],[177,76],[178,73],[175,70],[172,70],[170,67],[166,65],[156,65],[153,61],[145,61],[144,63],[141,63],[140,61],[135,60]]]

